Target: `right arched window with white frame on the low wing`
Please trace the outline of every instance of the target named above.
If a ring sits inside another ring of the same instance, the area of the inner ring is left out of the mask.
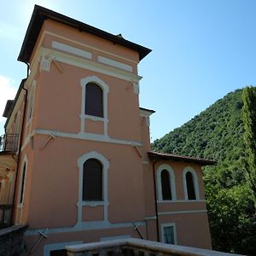
[[[196,172],[191,167],[186,167],[183,171],[184,194],[186,200],[198,200],[198,178]]]

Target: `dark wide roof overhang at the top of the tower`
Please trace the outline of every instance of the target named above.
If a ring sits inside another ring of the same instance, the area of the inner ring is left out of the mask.
[[[39,32],[44,24],[44,20],[55,20],[67,26],[72,26],[77,28],[79,32],[88,32],[90,34],[96,35],[97,37],[107,39],[113,42],[113,44],[120,44],[126,48],[133,49],[139,54],[139,60],[141,61],[146,55],[148,55],[151,49],[143,47],[142,45],[132,43],[127,41],[121,36],[116,36],[108,32],[104,32],[94,26],[87,25],[79,20],[74,20],[65,15],[56,13],[50,9],[35,5],[32,18],[26,30],[26,35],[20,49],[20,55],[18,61],[29,62],[32,55],[32,50],[37,42]]]

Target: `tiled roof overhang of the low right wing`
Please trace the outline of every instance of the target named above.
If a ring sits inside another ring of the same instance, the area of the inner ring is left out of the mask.
[[[206,160],[203,158],[196,158],[196,157],[190,157],[190,156],[184,156],[184,155],[178,155],[178,154],[166,154],[166,153],[160,153],[155,151],[149,151],[148,158],[152,160],[159,159],[159,160],[183,161],[183,162],[195,163],[200,166],[213,166],[217,164],[217,161],[214,161],[214,160]]]

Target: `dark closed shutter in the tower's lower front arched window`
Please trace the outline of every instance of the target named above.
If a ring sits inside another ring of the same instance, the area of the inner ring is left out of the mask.
[[[102,164],[96,159],[84,162],[83,201],[102,201]]]

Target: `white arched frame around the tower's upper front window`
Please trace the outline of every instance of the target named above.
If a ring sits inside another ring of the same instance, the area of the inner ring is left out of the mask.
[[[89,114],[85,114],[85,93],[86,93],[86,85],[89,83],[97,84],[102,89],[102,101],[103,101],[103,117],[93,116]],[[82,104],[81,104],[81,127],[80,133],[84,134],[85,127],[84,122],[86,119],[94,120],[94,121],[103,121],[104,122],[104,136],[108,137],[108,91],[109,86],[102,79],[99,79],[96,76],[86,77],[80,80],[80,85],[82,87]]]

